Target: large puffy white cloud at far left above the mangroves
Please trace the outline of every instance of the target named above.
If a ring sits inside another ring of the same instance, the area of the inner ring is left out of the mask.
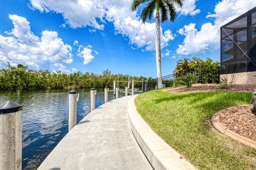
[[[55,31],[42,31],[37,37],[30,30],[26,18],[9,15],[14,28],[7,37],[0,35],[0,63],[25,64],[39,69],[44,64],[73,62],[71,46],[63,43]]]

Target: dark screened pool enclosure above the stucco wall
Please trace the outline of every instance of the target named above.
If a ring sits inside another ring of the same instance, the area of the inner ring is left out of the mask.
[[[223,25],[220,34],[220,74],[256,71],[256,7]]]

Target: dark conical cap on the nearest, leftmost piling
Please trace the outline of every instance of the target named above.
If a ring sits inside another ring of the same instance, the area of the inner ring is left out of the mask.
[[[13,103],[10,100],[5,101],[5,103],[0,105],[0,114],[14,113],[19,111],[22,111],[22,106],[17,103]]]

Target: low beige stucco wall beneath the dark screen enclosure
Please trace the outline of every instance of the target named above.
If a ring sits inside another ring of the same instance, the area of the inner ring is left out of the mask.
[[[233,84],[256,84],[256,71],[234,74],[221,74],[220,78],[227,78],[229,83],[231,83],[233,79]]]

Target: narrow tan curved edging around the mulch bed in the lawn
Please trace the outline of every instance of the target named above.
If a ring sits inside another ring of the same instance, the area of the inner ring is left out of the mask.
[[[224,109],[223,109],[224,110]],[[245,138],[233,131],[230,131],[226,126],[223,126],[220,122],[219,122],[219,117],[220,117],[220,114],[222,113],[222,111],[219,111],[217,113],[215,113],[213,116],[212,116],[212,125],[214,126],[215,129],[217,129],[219,132],[221,133],[224,133],[226,135],[228,135],[230,138],[238,141],[238,142],[241,142],[243,143],[244,145],[247,145],[251,148],[254,148],[256,149],[256,142],[249,139],[249,138]]]

